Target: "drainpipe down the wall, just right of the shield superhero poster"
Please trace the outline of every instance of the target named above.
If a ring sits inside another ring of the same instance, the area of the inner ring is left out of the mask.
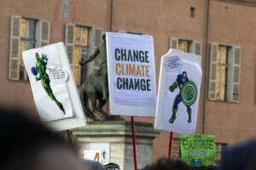
[[[203,111],[202,111],[202,133],[205,133],[205,122],[206,122],[206,102],[207,102],[207,76],[208,76],[208,37],[209,37],[209,13],[210,13],[210,0],[207,0],[207,14],[206,14],[206,51],[205,51],[205,78],[204,78],[204,99],[203,99]]]

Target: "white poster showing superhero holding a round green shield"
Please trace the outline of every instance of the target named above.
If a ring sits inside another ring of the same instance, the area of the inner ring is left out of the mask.
[[[195,133],[201,77],[200,55],[170,49],[162,56],[155,128]]]

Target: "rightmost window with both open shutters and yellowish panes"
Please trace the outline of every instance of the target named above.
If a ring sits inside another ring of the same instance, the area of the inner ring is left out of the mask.
[[[209,99],[239,102],[241,49],[212,43]]]

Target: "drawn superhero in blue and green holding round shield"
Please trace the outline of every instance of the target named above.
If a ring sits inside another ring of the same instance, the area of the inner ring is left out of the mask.
[[[183,71],[182,74],[177,75],[177,80],[170,86],[170,91],[173,92],[176,88],[180,89],[179,94],[177,94],[173,106],[172,106],[172,117],[169,122],[173,123],[176,119],[177,105],[183,101],[183,104],[187,107],[187,112],[189,115],[188,122],[191,122],[191,108],[190,105],[195,103],[197,98],[197,88],[195,82],[189,81],[187,72]]]

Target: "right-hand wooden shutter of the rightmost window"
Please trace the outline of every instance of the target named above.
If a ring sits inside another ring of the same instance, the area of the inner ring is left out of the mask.
[[[232,47],[229,59],[228,100],[239,102],[240,82],[241,82],[241,48]]]

